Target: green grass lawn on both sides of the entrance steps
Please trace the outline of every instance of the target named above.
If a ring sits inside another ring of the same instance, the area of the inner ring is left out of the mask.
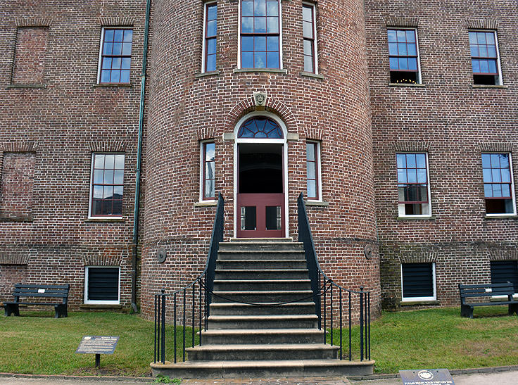
[[[22,317],[0,317],[0,372],[34,374],[111,374],[149,376],[153,360],[153,322],[120,313],[27,312]],[[179,328],[181,330],[181,328]],[[191,344],[187,328],[187,346]],[[84,335],[120,336],[113,355],[101,355],[101,370],[94,370],[94,355],[75,354]],[[182,359],[179,334],[177,351]],[[518,362],[518,317],[505,307],[475,310],[475,318],[460,317],[459,308],[384,313],[372,322],[372,359],[376,372],[394,373],[421,367],[491,367]],[[168,327],[172,360],[172,327]],[[339,334],[334,330],[334,341]],[[353,329],[353,357],[358,357],[358,328]],[[348,352],[348,331],[343,349]]]

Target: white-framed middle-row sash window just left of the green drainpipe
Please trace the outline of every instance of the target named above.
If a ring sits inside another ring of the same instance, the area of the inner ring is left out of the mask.
[[[122,218],[124,154],[92,153],[89,217]]]

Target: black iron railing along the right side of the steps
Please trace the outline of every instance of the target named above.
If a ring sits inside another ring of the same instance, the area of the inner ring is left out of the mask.
[[[301,193],[297,200],[298,213],[298,241],[304,245],[305,260],[308,265],[313,300],[315,301],[315,313],[318,317],[318,328],[323,331],[324,343],[327,343],[327,315],[329,314],[329,342],[334,345],[334,315],[339,317],[338,329],[340,339],[340,359],[343,359],[342,336],[343,336],[343,298],[346,298],[346,309],[348,310],[348,332],[349,332],[349,360],[353,357],[353,318],[358,314],[360,324],[360,360],[370,360],[370,292],[364,291],[360,286],[360,291],[345,289],[332,279],[320,268],[318,263],[315,244],[311,234],[308,213],[305,210],[304,196]],[[324,282],[322,284],[322,281]],[[333,289],[335,288],[335,289]],[[327,294],[329,293],[329,305]],[[358,307],[353,308],[355,296],[358,296]],[[338,304],[337,304],[338,302]],[[353,314],[353,310],[355,314]]]

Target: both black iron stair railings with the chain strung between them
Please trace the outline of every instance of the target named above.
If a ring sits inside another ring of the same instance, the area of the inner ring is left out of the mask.
[[[223,240],[223,206],[224,200],[219,195],[217,203],[217,213],[214,221],[213,234],[210,239],[210,248],[205,270],[200,276],[183,289],[179,289],[172,294],[165,294],[162,290],[160,294],[155,295],[155,341],[154,341],[154,362],[165,363],[165,309],[169,302],[172,305],[172,323],[173,323],[173,362],[177,362],[177,344],[182,343],[182,360],[185,361],[185,349],[187,345],[195,346],[195,334],[198,327],[199,344],[201,345],[201,334],[207,330],[210,302],[212,301],[215,264],[217,260],[217,251],[220,241]],[[305,211],[303,196],[298,198],[298,241],[304,245],[306,263],[308,265],[310,282],[312,288],[312,296],[298,298],[296,301],[282,303],[251,303],[244,301],[236,301],[235,299],[225,299],[228,302],[246,303],[253,306],[279,306],[286,303],[296,303],[307,301],[312,298],[315,301],[315,313],[318,317],[318,328],[322,330],[322,339],[324,343],[335,345],[336,339],[334,332],[339,330],[339,358],[343,360],[343,320],[344,309],[348,321],[348,360],[353,360],[353,323],[359,324],[359,350],[360,360],[370,360],[370,293],[364,291],[360,286],[360,291],[344,289],[329,279],[317,260],[315,245],[313,244],[311,229],[309,226],[308,215]],[[187,297],[190,303],[187,303]],[[329,304],[328,304],[329,301]],[[344,305],[344,302],[346,303]],[[196,308],[196,303],[198,308]],[[189,310],[189,306],[191,308]],[[197,311],[196,311],[197,310]],[[190,314],[191,341],[187,341],[187,313]],[[196,324],[196,313],[198,313],[198,323]],[[338,317],[336,320],[335,317]],[[329,325],[328,325],[329,318]],[[177,322],[181,319],[182,336],[178,336]],[[181,341],[178,341],[178,340]]]

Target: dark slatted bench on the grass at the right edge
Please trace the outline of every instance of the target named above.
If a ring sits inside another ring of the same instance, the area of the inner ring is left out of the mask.
[[[509,315],[516,313],[518,315],[518,301],[514,301],[512,295],[514,294],[514,287],[512,283],[505,284],[479,284],[479,285],[463,285],[459,284],[460,291],[460,315],[462,317],[473,318],[473,308],[475,306],[494,306],[494,305],[509,305]],[[505,299],[497,299],[491,302],[475,302],[466,303],[467,298],[480,298],[492,296],[507,296]]]

